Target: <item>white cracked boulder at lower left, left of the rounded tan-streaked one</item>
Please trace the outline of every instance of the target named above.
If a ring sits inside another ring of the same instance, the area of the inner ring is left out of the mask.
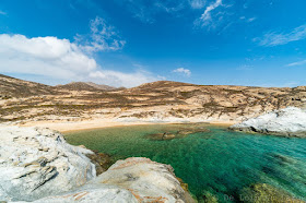
[[[85,156],[43,128],[0,128],[0,201],[33,201],[80,187],[96,177]]]

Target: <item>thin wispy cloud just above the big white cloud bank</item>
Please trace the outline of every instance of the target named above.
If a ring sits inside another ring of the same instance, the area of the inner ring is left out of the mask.
[[[87,52],[122,49],[126,41],[102,17],[96,16],[90,22],[90,36],[76,35],[75,41]]]

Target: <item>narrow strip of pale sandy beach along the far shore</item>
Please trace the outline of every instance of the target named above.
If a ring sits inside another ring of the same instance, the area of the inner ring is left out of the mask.
[[[213,126],[225,126],[229,127],[236,122],[225,122],[225,121],[202,121],[208,122]],[[110,127],[128,127],[128,126],[145,126],[145,124],[176,124],[186,122],[152,122],[152,121],[117,121],[115,119],[92,119],[83,121],[31,121],[25,123],[19,123],[20,127],[44,127],[52,130],[57,130],[61,133],[83,131],[83,130],[94,130]],[[197,123],[196,121],[190,123]]]

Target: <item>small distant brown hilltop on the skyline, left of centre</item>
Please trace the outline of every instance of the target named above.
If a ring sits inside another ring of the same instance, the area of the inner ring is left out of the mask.
[[[108,85],[99,85],[92,82],[72,82],[66,85],[57,85],[58,88],[64,88],[69,91],[113,91],[116,87]]]

